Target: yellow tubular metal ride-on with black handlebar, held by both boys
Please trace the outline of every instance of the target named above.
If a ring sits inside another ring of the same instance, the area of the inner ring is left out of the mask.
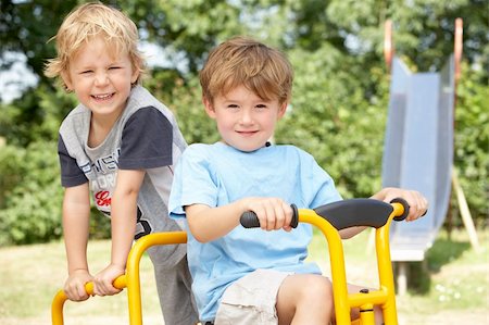
[[[297,209],[291,226],[297,227],[299,222],[309,223],[319,228],[326,237],[331,265],[331,282],[334,290],[335,312],[337,324],[340,325],[373,325],[374,305],[379,305],[386,325],[397,325],[396,291],[389,249],[389,228],[392,221],[402,221],[409,214],[409,205],[402,199],[394,199],[385,203],[373,199],[351,199],[316,209]],[[244,227],[256,227],[259,221],[253,213],[241,216]],[[346,277],[343,247],[338,230],[352,226],[367,226],[375,229],[375,243],[377,254],[378,289],[363,289],[361,292],[349,293]],[[293,232],[293,230],[292,230]],[[127,260],[126,274],[117,277],[114,287],[127,287],[129,324],[142,324],[142,309],[140,296],[139,262],[142,253],[154,245],[184,243],[187,235],[184,232],[150,234],[141,237],[134,245]],[[89,295],[93,293],[93,285],[85,286]],[[66,301],[63,290],[58,291],[51,305],[53,325],[62,325],[63,307]],[[350,320],[350,310],[360,309],[361,317]]]

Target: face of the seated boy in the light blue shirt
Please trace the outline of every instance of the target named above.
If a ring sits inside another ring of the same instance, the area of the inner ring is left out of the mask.
[[[241,151],[265,146],[287,108],[278,99],[261,99],[244,86],[216,96],[213,103],[204,99],[204,105],[209,116],[216,121],[223,141]]]

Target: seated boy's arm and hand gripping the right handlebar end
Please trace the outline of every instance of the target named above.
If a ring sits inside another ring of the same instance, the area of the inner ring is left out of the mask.
[[[380,200],[390,203],[396,198],[404,199],[410,205],[410,214],[405,221],[411,222],[423,216],[428,210],[428,200],[416,190],[406,190],[396,187],[386,187],[376,192],[371,199]],[[341,238],[351,238],[356,234],[363,232],[365,227],[351,227],[340,230]]]

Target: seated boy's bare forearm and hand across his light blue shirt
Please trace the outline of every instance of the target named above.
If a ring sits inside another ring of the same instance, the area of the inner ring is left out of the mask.
[[[185,208],[189,229],[201,242],[225,236],[239,225],[242,213],[253,211],[265,230],[285,229],[290,232],[292,209],[277,198],[244,198],[227,205],[210,208],[192,204]]]

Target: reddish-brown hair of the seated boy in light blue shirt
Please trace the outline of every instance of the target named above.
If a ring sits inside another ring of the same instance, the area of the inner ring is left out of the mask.
[[[280,51],[238,36],[211,51],[199,77],[202,96],[211,102],[242,85],[263,100],[284,103],[290,100],[293,71]]]

